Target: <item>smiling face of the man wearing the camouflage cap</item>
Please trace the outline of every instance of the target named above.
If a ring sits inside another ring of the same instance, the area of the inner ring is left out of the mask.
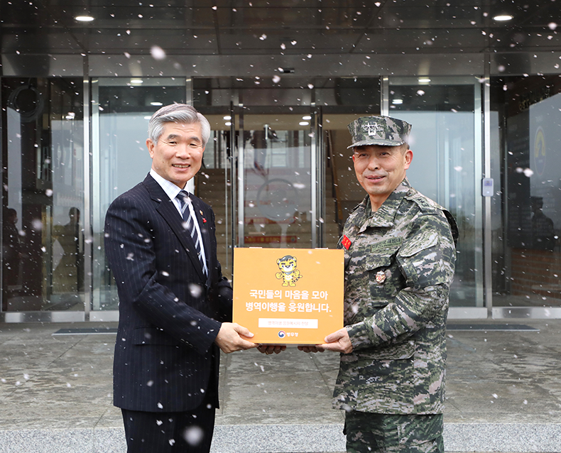
[[[413,151],[403,146],[357,146],[352,156],[356,179],[370,196],[377,211],[405,178],[405,170],[413,160]]]

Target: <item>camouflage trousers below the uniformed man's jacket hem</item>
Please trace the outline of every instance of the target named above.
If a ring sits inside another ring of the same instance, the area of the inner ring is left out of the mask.
[[[345,415],[347,453],[444,453],[444,417],[358,412]]]

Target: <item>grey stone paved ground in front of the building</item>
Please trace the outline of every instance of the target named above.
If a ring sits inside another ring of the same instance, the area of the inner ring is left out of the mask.
[[[80,327],[116,324],[0,324],[0,453],[125,451],[111,405],[115,335],[53,335]],[[561,321],[450,327],[447,451],[561,452]],[[294,348],[224,356],[213,452],[344,451],[342,414],[330,406],[337,361]]]

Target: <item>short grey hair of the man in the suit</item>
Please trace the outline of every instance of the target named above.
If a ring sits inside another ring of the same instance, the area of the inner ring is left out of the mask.
[[[200,124],[202,146],[206,146],[210,138],[210,124],[194,107],[187,104],[170,104],[162,107],[148,122],[148,138],[156,145],[162,136],[165,123]]]

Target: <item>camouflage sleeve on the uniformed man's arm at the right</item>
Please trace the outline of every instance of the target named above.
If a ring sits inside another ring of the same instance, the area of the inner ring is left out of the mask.
[[[433,322],[445,322],[455,248],[444,217],[415,220],[396,256],[405,288],[388,305],[347,326],[354,350],[402,342]]]

